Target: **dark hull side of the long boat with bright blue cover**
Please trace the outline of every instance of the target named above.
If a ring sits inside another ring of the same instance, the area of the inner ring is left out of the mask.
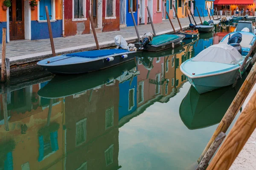
[[[93,71],[102,70],[105,68],[110,68],[114,65],[118,65],[124,62],[128,62],[135,57],[135,52],[128,53],[127,58],[120,57],[119,54],[114,56],[114,60],[108,62],[106,59],[98,59],[90,62],[79,62],[69,65],[41,65],[47,71],[52,72],[53,74],[81,74],[81,73],[90,73]]]

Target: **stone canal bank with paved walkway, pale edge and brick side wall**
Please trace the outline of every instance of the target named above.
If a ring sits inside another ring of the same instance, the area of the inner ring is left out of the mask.
[[[209,20],[209,17],[205,18]],[[195,20],[198,24],[200,23],[199,17],[195,17]],[[179,31],[177,19],[172,19],[172,22],[175,30]],[[180,23],[183,29],[189,28],[188,18],[180,18]],[[157,35],[173,33],[169,20],[163,20],[163,23],[154,24],[154,27]],[[141,37],[147,32],[152,32],[151,25],[149,24],[138,26],[138,30]],[[116,35],[122,35],[128,43],[137,41],[134,27],[120,28],[120,31],[97,34],[100,48],[114,47],[113,39]],[[57,55],[96,49],[93,34],[55,38],[54,44]],[[1,53],[2,51],[0,51],[0,56],[2,56]],[[39,68],[36,62],[51,56],[49,39],[12,41],[6,44],[6,57],[10,59],[11,76],[35,71]]]

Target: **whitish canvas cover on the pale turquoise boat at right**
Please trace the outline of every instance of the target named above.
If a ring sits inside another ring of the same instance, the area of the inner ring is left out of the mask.
[[[192,61],[219,62],[235,65],[242,59],[242,55],[233,46],[216,44],[201,51]]]

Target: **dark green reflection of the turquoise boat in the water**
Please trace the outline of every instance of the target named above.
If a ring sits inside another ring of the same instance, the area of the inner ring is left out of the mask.
[[[198,94],[191,85],[180,104],[180,119],[190,130],[218,124],[232,103],[247,74],[240,79],[236,88],[227,86],[205,94]]]

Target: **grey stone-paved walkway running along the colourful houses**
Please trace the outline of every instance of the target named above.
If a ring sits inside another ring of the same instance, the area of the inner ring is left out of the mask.
[[[209,20],[209,17],[205,17],[205,19]],[[199,17],[195,17],[195,20],[196,22],[200,22]],[[172,19],[172,22],[175,28],[179,28],[177,19]],[[181,26],[188,26],[189,19],[180,18],[180,23],[181,23]],[[163,23],[154,24],[154,28],[156,30],[156,33],[161,31],[172,30],[169,20],[163,20]],[[153,32],[150,24],[138,26],[138,30],[140,35],[143,35],[149,31]],[[46,34],[48,34],[48,32]],[[120,31],[97,33],[99,43],[113,41],[116,35],[122,35],[122,37],[124,38],[137,37],[134,27],[120,28]],[[90,45],[90,44],[95,45],[93,34],[83,34],[83,35],[75,35],[70,37],[54,38],[55,50],[76,47],[80,45]],[[18,41],[11,41],[6,44],[6,57],[9,57],[9,58],[28,55],[28,54],[41,53],[46,51],[51,51],[51,45],[50,45],[49,39],[18,40]],[[0,49],[0,57],[1,56],[2,56],[2,48]]]

